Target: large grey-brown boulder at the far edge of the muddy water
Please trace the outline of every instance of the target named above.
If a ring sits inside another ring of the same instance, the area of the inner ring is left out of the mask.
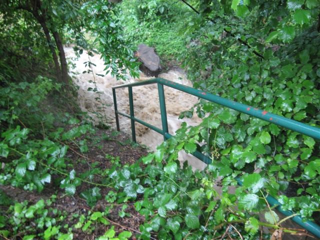
[[[135,56],[137,56],[141,62],[140,70],[147,76],[157,76],[159,74],[161,70],[160,58],[155,54],[152,47],[145,44],[138,45]]]

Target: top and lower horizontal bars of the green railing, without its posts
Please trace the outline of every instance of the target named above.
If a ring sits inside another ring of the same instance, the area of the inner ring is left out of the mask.
[[[252,107],[252,106],[249,106],[246,104],[238,103],[238,102],[235,102],[235,101],[232,101],[232,100],[229,100],[229,99],[217,96],[217,95],[213,95],[213,94],[205,92],[205,91],[194,89],[192,87],[185,86],[185,85],[182,85],[182,84],[179,84],[179,83],[176,83],[173,81],[169,81],[169,80],[166,80],[163,78],[154,78],[154,79],[146,80],[146,81],[123,84],[123,85],[112,87],[112,89],[123,88],[123,87],[128,87],[128,86],[140,86],[140,85],[146,85],[146,84],[152,84],[152,83],[161,83],[163,85],[172,87],[174,89],[178,89],[180,91],[189,93],[191,95],[200,97],[202,99],[206,99],[208,101],[220,104],[222,106],[226,106],[228,108],[243,112],[245,114],[248,114],[248,115],[257,117],[259,119],[274,123],[276,125],[283,126],[284,128],[311,136],[315,139],[320,139],[320,128],[318,128],[318,127],[313,127],[313,126],[307,125],[305,123],[301,123],[299,121],[295,121],[295,120],[292,120],[292,119],[289,119],[289,118],[286,118],[283,116],[279,116],[279,115],[267,112],[265,110],[260,110],[260,109],[257,109],[255,107]],[[169,134],[168,132],[163,132],[163,130],[161,130],[161,129],[159,129],[159,128],[157,128],[147,122],[144,122],[144,121],[137,119],[135,117],[131,118],[129,115],[122,113],[122,112],[116,111],[116,113],[123,115],[123,116],[126,116],[130,119],[134,119],[137,122],[141,123],[142,125],[145,125],[151,129],[157,131],[158,133],[163,134],[166,139],[172,137],[172,135]],[[197,157],[198,159],[200,159],[201,161],[203,161],[204,163],[207,163],[207,164],[211,163],[211,159],[199,151],[195,151],[191,154],[194,155],[195,157]],[[241,182],[239,180],[238,180],[238,183],[241,185]],[[268,195],[266,197],[266,200],[269,202],[269,204],[271,206],[277,205],[276,209],[279,210],[282,214],[284,214],[286,216],[292,215],[291,211],[283,210],[281,208],[281,204],[274,197]],[[291,219],[294,222],[296,222],[297,224],[299,224],[300,226],[302,226],[303,228],[305,228],[306,230],[310,231],[312,234],[316,235],[317,237],[320,237],[320,226],[317,225],[316,223],[309,221],[309,220],[303,221],[302,217],[299,215],[293,216]]]

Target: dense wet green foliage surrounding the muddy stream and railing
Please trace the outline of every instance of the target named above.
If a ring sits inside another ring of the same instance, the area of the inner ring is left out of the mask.
[[[124,0],[117,10],[103,0],[41,3],[44,8],[37,12],[50,34],[75,43],[79,54],[83,49],[102,53],[118,78],[126,70],[136,75],[126,40],[141,41],[166,59],[178,57],[196,88],[320,125],[317,0],[190,0],[193,9],[182,1]],[[0,192],[1,205],[8,206],[0,213],[1,237],[72,239],[74,229],[90,232],[100,224],[106,230],[97,239],[126,239],[130,232],[114,237],[108,214],[113,204],[121,204],[118,215],[126,216],[128,202],[145,217],[141,239],[264,239],[277,230],[303,234],[282,227],[287,219],[269,207],[268,194],[303,219],[319,220],[319,142],[206,101],[181,113],[203,118],[198,126],[183,123],[175,137],[138,162],[121,165],[106,156],[111,167],[93,163],[90,170],[77,172],[77,162],[66,153],[71,144],[87,152],[97,128],[84,113],[57,107],[62,105],[58,98],[65,99],[65,82],[52,73],[54,53],[47,49],[50,41],[34,19],[36,12],[23,11],[13,0],[0,12],[0,184],[29,191],[51,184],[68,195],[81,189],[79,196],[89,207],[101,198],[110,203],[104,211],[71,216],[76,223],[65,225],[65,213],[50,208],[54,196],[12,204]],[[56,47],[54,52],[61,53]],[[49,105],[51,99],[56,105]],[[212,164],[204,171],[180,168],[178,151],[196,149]],[[103,195],[102,188],[112,190]],[[262,226],[270,233],[260,231]]]

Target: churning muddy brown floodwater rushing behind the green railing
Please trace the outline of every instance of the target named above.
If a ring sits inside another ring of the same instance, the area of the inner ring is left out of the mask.
[[[128,81],[116,80],[115,77],[108,73],[105,76],[99,76],[98,74],[105,73],[105,65],[103,60],[100,59],[100,55],[88,56],[86,53],[82,53],[80,57],[76,57],[72,47],[64,47],[65,54],[70,61],[71,71],[70,75],[73,81],[78,85],[78,103],[81,110],[86,111],[89,115],[96,120],[96,115],[93,112],[100,112],[107,116],[107,123],[115,128],[114,106],[112,98],[112,86],[116,86],[123,83],[135,82],[150,79],[152,77],[146,77],[143,73],[140,74],[138,79],[129,77]],[[84,62],[93,62],[92,72],[84,72],[89,67]],[[184,85],[191,85],[191,82],[186,79],[185,74],[179,70],[169,70],[168,72],[161,73],[159,77],[165,78],[170,81],[181,83]],[[88,91],[89,87],[94,88],[92,82],[95,81],[97,90],[101,92],[100,99],[103,105],[106,107],[101,108],[101,102],[96,100],[97,93]],[[161,127],[161,116],[158,99],[158,91],[156,84],[135,86],[132,87],[133,91],[133,105],[134,116],[144,120],[158,128]],[[185,118],[183,120],[178,119],[181,111],[190,109],[196,102],[197,97],[182,91],[164,86],[166,112],[168,120],[169,133],[174,132],[180,127],[182,121],[185,121],[188,125],[196,125],[200,122],[200,118],[193,116],[192,118]],[[118,110],[129,114],[129,102],[128,102],[128,90],[127,88],[116,89],[116,100]],[[104,112],[103,112],[104,111]],[[119,116],[120,130],[128,134],[131,134],[130,119]],[[163,141],[163,136],[159,133],[139,124],[135,124],[136,140],[149,146],[152,150],[156,148]],[[179,152],[180,162],[185,160],[192,166],[193,169],[203,169],[206,164],[193,157],[190,154],[186,154],[183,151]]]

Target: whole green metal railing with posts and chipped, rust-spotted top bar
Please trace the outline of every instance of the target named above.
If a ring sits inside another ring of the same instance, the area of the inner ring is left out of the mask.
[[[141,85],[147,85],[147,84],[153,84],[156,83],[158,87],[158,95],[159,95],[159,103],[160,103],[160,113],[161,113],[161,123],[162,123],[162,129],[157,128],[156,126],[153,126],[141,119],[138,119],[134,117],[134,109],[133,109],[133,96],[132,96],[132,87],[133,86],[141,86]],[[166,109],[165,109],[165,98],[164,98],[164,89],[163,85],[172,87],[174,89],[189,93],[191,95],[200,97],[202,99],[206,99],[208,101],[220,104],[222,106],[226,106],[228,108],[246,113],[248,115],[260,118],[262,120],[274,123],[279,126],[283,126],[284,128],[308,135],[310,137],[313,137],[314,139],[320,140],[320,128],[310,126],[304,123],[301,123],[299,121],[295,121],[292,119],[288,119],[283,116],[279,116],[270,112],[267,112],[265,110],[260,110],[255,107],[245,105],[239,102],[231,101],[228,99],[225,99],[220,96],[213,95],[211,93],[201,91],[189,86],[185,86],[173,81],[169,81],[163,78],[154,78],[151,80],[146,80],[146,81],[140,81],[140,82],[134,82],[134,83],[129,83],[129,84],[123,84],[119,86],[114,86],[112,87],[112,94],[113,94],[113,103],[114,103],[114,112],[115,112],[115,121],[116,121],[116,129],[119,131],[120,126],[119,126],[119,118],[118,115],[122,115],[125,117],[128,117],[131,119],[131,133],[132,133],[132,141],[135,140],[135,126],[134,123],[135,121],[148,127],[151,128],[152,130],[160,133],[163,135],[164,140],[172,137],[171,134],[168,132],[168,124],[167,124],[167,118],[166,118]],[[120,112],[117,109],[117,104],[116,104],[116,93],[115,89],[117,88],[128,88],[129,92],[129,108],[130,108],[130,115]],[[211,159],[204,154],[202,154],[199,151],[195,151],[192,153],[195,157],[203,161],[204,163],[211,163]],[[238,180],[238,179],[237,179]],[[241,182],[238,180],[238,183],[241,185]],[[288,210],[283,210],[281,208],[281,204],[272,196],[268,195],[266,197],[266,200],[271,206],[276,206],[276,209],[284,214],[285,216],[290,216],[293,214],[293,212],[288,211]],[[320,238],[320,226],[317,225],[316,223],[312,221],[303,221],[302,218],[299,215],[293,216],[291,218],[294,222],[314,234],[315,236]]]

